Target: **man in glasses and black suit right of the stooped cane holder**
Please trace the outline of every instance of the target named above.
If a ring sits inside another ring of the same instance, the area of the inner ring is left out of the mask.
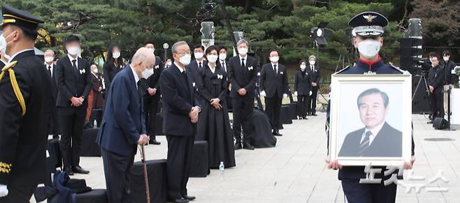
[[[174,63],[160,76],[163,96],[163,129],[168,140],[168,202],[185,203],[195,197],[187,193],[192,164],[196,123],[201,107],[196,82],[187,65],[190,48],[185,41],[171,47]]]

